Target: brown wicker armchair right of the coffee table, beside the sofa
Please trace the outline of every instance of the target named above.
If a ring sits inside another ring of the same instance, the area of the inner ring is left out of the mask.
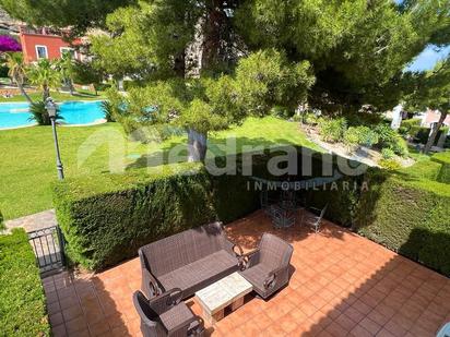
[[[258,249],[242,254],[245,262],[240,274],[263,299],[289,281],[289,261],[293,246],[271,233],[263,233]]]

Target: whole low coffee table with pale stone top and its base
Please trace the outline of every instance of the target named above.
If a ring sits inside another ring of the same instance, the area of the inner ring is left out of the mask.
[[[196,298],[203,310],[203,317],[210,324],[215,324],[224,317],[227,306],[235,311],[252,290],[251,284],[236,272],[197,291]]]

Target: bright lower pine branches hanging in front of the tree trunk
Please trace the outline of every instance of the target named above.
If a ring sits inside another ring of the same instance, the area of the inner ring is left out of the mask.
[[[240,123],[248,115],[264,116],[273,106],[294,107],[312,83],[308,63],[289,64],[275,50],[259,51],[241,59],[234,76],[170,79],[131,88],[125,122],[134,129],[171,124],[208,134]],[[288,93],[295,93],[292,100]]]

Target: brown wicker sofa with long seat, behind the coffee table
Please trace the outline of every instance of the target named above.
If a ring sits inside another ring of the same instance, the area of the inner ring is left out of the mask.
[[[235,253],[235,250],[239,253]],[[142,291],[147,298],[174,288],[182,299],[239,269],[242,250],[228,241],[221,222],[189,229],[139,249]]]

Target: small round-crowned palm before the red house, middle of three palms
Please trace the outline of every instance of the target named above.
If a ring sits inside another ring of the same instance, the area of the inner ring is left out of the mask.
[[[60,73],[54,62],[47,59],[40,59],[37,64],[29,67],[26,74],[29,82],[43,91],[43,101],[50,97],[50,88],[59,87],[61,84]]]

